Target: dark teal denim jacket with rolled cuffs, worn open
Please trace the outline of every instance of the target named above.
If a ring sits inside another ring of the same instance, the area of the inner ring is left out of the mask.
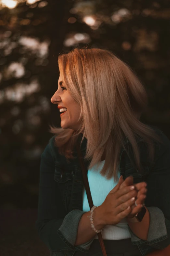
[[[154,162],[148,161],[147,146],[142,139],[138,139],[142,172],[132,164],[134,158],[128,140],[125,147],[128,146],[132,161],[122,148],[119,164],[123,179],[132,175],[134,183],[145,181],[148,184],[145,200],[150,215],[147,241],[138,238],[128,225],[132,245],[137,245],[143,256],[170,244],[170,140],[161,130],[152,128],[163,141],[163,144],[155,143]],[[78,140],[81,141],[81,138],[79,136]],[[84,138],[81,145],[83,156],[86,145],[87,139]],[[54,136],[41,155],[38,218],[35,226],[40,239],[49,248],[50,256],[73,256],[78,250],[88,252],[93,242],[91,239],[83,245],[74,246],[78,223],[85,212],[82,211],[84,182],[76,148],[73,155],[76,159],[70,160],[68,164],[54,146]],[[84,163],[88,171],[90,162],[84,160]]]

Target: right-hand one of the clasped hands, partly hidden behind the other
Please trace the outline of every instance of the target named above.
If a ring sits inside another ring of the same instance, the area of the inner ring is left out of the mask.
[[[135,186],[135,190],[136,190],[136,204],[135,203],[131,206],[131,212],[128,216],[126,216],[126,218],[133,218],[137,213],[139,213],[143,207],[145,198],[146,198],[146,193],[147,193],[147,184],[146,182],[140,182],[140,183],[136,183],[133,184],[134,178],[133,176],[129,176],[127,177],[124,181],[122,176],[120,177],[120,187],[119,189],[125,187],[125,186],[130,186],[130,185],[134,185]]]

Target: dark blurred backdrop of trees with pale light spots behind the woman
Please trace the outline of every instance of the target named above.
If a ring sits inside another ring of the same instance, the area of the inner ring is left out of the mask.
[[[59,111],[50,102],[58,87],[57,58],[77,46],[108,49],[132,67],[149,96],[141,121],[170,138],[168,0],[0,1],[0,208],[5,256],[49,255],[34,229],[40,157],[52,136],[49,125],[60,127]]]

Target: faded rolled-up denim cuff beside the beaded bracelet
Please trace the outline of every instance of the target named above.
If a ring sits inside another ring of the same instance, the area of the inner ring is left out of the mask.
[[[62,223],[61,227],[59,228],[59,231],[61,232],[63,237],[72,246],[75,245],[76,238],[77,238],[77,232],[78,232],[78,224],[79,224],[79,221],[81,219],[81,216],[84,213],[85,212],[83,212],[81,210],[78,210],[78,209],[69,212],[65,216],[65,218],[63,220],[63,223]],[[73,225],[73,223],[74,223],[74,225]],[[93,240],[94,239],[91,239],[91,240],[87,241],[86,243],[84,243],[82,245],[75,246],[75,249],[77,248],[81,251],[86,252],[86,250],[88,250],[90,248],[90,245],[92,244]]]

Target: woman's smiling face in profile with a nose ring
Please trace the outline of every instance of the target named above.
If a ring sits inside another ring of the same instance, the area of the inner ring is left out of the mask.
[[[58,90],[52,96],[51,102],[53,104],[58,104],[58,106],[62,106],[63,108],[65,107],[67,109],[67,111],[60,116],[61,127],[63,129],[70,128],[77,131],[79,129],[78,118],[80,116],[80,106],[70,95],[62,81],[63,77],[62,73],[60,73],[60,77],[58,80]],[[60,110],[58,109],[58,111]]]

